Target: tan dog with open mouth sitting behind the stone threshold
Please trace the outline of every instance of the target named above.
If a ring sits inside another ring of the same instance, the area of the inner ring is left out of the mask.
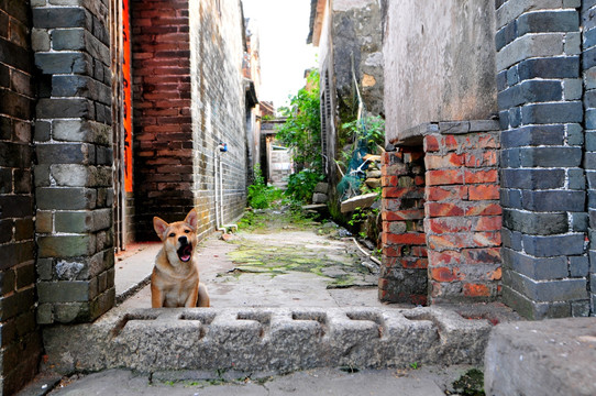
[[[197,212],[191,209],[184,221],[170,224],[153,218],[153,228],[163,242],[151,275],[151,306],[209,307],[207,287],[199,283],[195,260]]]

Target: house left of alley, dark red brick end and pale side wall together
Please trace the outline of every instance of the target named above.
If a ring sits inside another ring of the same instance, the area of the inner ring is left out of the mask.
[[[245,205],[240,2],[133,1],[132,26],[136,239],[155,238],[154,216],[178,220],[192,207],[206,235],[216,227],[214,155],[223,164],[223,222]],[[229,151],[216,154],[220,141]]]

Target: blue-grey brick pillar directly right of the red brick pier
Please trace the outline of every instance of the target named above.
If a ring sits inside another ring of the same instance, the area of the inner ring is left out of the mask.
[[[503,296],[528,318],[589,312],[578,7],[496,2]]]

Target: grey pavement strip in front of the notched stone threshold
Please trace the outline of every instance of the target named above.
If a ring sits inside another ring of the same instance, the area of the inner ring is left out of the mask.
[[[391,370],[365,370],[346,373],[323,369],[293,373],[284,376],[255,376],[249,373],[233,380],[188,376],[185,380],[161,381],[154,373],[134,373],[110,370],[90,374],[53,395],[205,395],[205,396],[266,396],[266,395],[444,395],[435,378],[428,373]],[[239,373],[241,375],[241,373]],[[441,384],[442,385],[442,384]]]

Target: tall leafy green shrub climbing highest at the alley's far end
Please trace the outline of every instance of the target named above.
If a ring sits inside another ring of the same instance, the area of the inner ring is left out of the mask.
[[[322,169],[319,72],[312,70],[307,86],[290,98],[290,106],[279,109],[286,122],[276,138],[291,148],[294,162],[301,168]]]

